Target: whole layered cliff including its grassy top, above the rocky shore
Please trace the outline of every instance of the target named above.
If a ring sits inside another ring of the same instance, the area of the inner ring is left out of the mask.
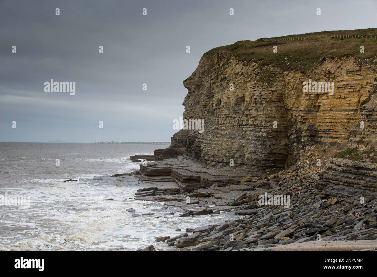
[[[355,145],[374,151],[375,34],[320,32],[208,51],[183,82],[183,118],[204,119],[204,132],[180,130],[169,148],[155,150],[156,159],[187,153],[210,165],[233,159],[236,167],[279,171],[308,152],[327,159]],[[334,93],[304,92],[310,80],[334,82]]]

